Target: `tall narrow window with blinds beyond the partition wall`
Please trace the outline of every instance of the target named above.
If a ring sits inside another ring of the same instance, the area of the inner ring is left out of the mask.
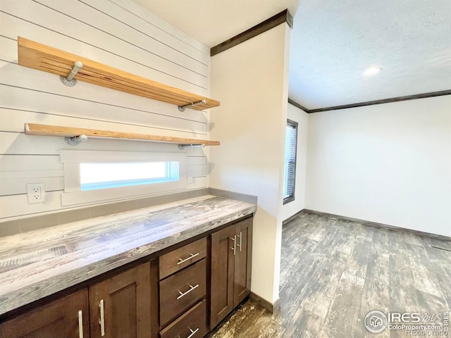
[[[285,179],[283,180],[283,204],[295,200],[297,122],[287,120],[285,136]]]

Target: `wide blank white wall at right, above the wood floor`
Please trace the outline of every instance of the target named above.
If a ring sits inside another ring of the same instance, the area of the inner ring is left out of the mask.
[[[451,236],[451,96],[309,114],[305,208]]]

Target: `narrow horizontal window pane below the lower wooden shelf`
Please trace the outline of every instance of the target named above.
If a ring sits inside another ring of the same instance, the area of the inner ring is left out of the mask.
[[[171,182],[179,179],[179,163],[80,163],[81,191]]]

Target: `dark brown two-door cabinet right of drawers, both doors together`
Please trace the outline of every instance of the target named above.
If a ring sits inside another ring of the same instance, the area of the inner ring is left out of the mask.
[[[251,262],[252,218],[211,234],[211,329],[250,294]]]

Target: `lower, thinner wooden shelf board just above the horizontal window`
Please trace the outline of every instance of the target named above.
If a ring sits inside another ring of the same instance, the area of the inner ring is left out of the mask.
[[[170,137],[149,134],[137,134],[134,132],[115,132],[111,130],[97,130],[74,127],[62,127],[59,125],[39,125],[36,123],[25,123],[25,134],[39,136],[61,136],[73,137],[86,135],[87,137],[98,137],[107,139],[133,139],[139,141],[152,141],[174,144],[205,144],[206,146],[218,146],[218,141],[204,139],[185,139],[183,137]]]

